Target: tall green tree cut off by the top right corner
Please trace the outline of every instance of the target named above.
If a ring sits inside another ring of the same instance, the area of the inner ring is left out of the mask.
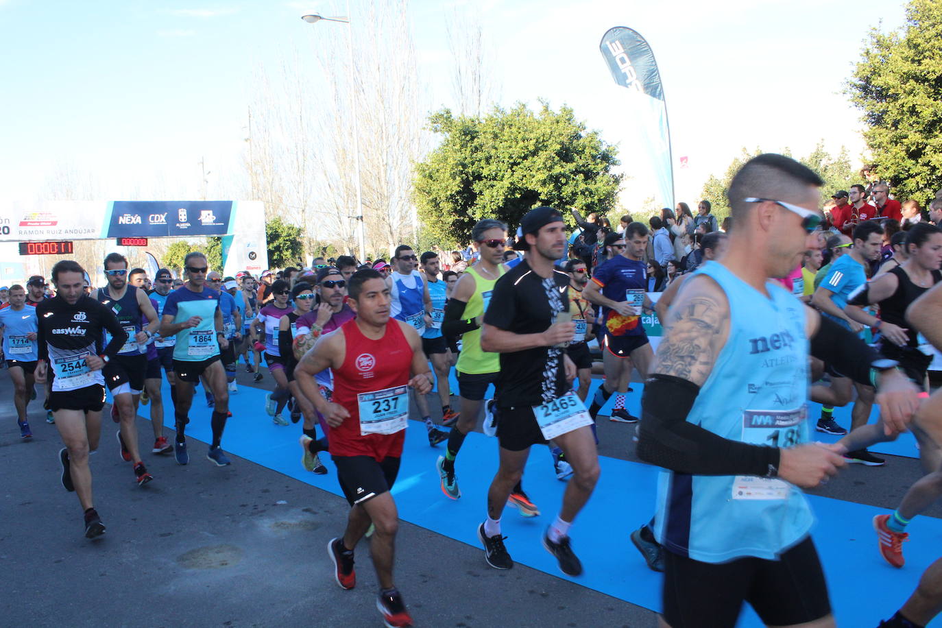
[[[899,199],[928,201],[942,187],[942,4],[910,0],[898,32],[873,28],[847,83],[863,111],[875,174]]]

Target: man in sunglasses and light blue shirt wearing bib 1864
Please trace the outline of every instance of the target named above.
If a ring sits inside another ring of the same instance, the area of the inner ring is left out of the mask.
[[[230,464],[222,451],[222,432],[229,412],[229,391],[226,390],[226,372],[219,362],[219,349],[229,346],[222,331],[222,313],[219,311],[219,293],[206,286],[208,263],[199,251],[187,253],[184,259],[188,281],[167,298],[161,317],[160,335],[176,336],[173,346],[173,371],[177,380],[177,395],[173,401],[176,419],[174,454],[177,464],[187,464],[186,427],[189,423],[193,391],[201,375],[209,382],[216,405],[213,407],[211,426],[213,441],[206,458],[217,466]]]

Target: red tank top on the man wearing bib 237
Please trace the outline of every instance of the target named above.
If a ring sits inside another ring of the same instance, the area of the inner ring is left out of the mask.
[[[409,383],[413,350],[399,324],[391,320],[379,340],[367,338],[350,320],[340,328],[346,353],[340,368],[333,371],[333,402],[343,406],[349,417],[331,428],[333,456],[369,456],[376,460],[402,456],[404,429],[395,434],[365,434],[360,431],[360,407],[357,395],[373,393]],[[406,397],[408,406],[408,396]]]

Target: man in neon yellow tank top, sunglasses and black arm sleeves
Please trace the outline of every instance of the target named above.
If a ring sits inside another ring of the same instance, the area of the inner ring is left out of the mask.
[[[480,259],[462,274],[455,285],[445,307],[445,321],[442,323],[442,332],[447,336],[463,334],[462,352],[456,364],[458,392],[462,397],[461,416],[448,433],[446,455],[439,456],[435,463],[442,479],[442,492],[450,499],[462,496],[455,478],[455,457],[464,443],[464,437],[477,427],[484,395],[500,371],[500,356],[480,348],[480,326],[494,284],[504,274],[501,263],[506,248],[507,225],[499,220],[485,218],[474,226],[471,237],[479,244]],[[488,405],[491,403],[493,401]],[[514,487],[510,501],[525,517],[540,514],[519,483]]]

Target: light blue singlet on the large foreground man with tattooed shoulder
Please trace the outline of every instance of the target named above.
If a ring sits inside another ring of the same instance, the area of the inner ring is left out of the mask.
[[[697,274],[729,301],[729,339],[687,421],[723,438],[787,447],[808,441],[804,305],[767,282],[769,296],[719,262]],[[655,536],[667,550],[708,563],[774,559],[811,529],[804,494],[781,479],[661,470]]]

